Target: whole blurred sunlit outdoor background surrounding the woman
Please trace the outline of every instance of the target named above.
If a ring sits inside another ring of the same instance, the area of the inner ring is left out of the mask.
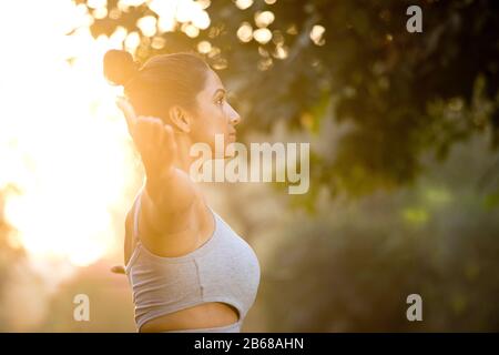
[[[310,143],[307,194],[203,185],[261,262],[243,332],[499,331],[498,27],[486,0],[2,2],[0,331],[135,332],[109,271],[143,181],[112,48],[197,51],[243,143]]]

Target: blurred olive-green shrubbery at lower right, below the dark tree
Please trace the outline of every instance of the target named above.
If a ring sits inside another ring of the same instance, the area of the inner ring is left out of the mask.
[[[476,136],[449,154],[411,187],[289,216],[265,265],[267,329],[497,332],[499,213],[477,176],[498,154]],[[410,294],[422,322],[406,318]]]

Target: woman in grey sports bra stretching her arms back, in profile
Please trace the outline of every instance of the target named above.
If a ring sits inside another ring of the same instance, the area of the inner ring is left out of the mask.
[[[111,50],[104,74],[124,87],[119,105],[146,174],[124,243],[139,332],[240,332],[256,297],[258,260],[189,174],[191,145],[213,152],[215,134],[224,146],[234,142],[240,115],[195,54],[157,55],[139,68],[128,52]]]

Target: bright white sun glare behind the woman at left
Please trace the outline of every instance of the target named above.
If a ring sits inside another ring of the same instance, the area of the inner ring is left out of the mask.
[[[84,26],[65,36],[85,21],[81,7],[62,0],[9,1],[0,14],[11,49],[0,57],[0,189],[10,242],[74,265],[115,250],[140,184],[118,89],[102,75],[103,53],[121,43],[95,40]]]

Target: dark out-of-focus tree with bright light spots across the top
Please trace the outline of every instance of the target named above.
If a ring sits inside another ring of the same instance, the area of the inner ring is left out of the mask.
[[[140,61],[205,51],[235,89],[234,103],[252,129],[269,131],[284,120],[292,130],[319,134],[330,118],[348,122],[335,152],[312,148],[313,189],[325,184],[332,192],[364,194],[399,186],[424,169],[425,151],[445,159],[454,143],[477,130],[490,131],[491,149],[498,146],[499,11],[493,1],[419,1],[421,33],[406,29],[414,1],[197,3],[207,7],[211,19],[198,34],[189,22],[177,22],[173,31],[146,37],[138,21],[160,19],[159,11],[147,3],[124,9],[115,0],[108,1],[106,17],[94,19],[92,34],[110,36],[119,27],[136,31]],[[252,32],[257,24],[272,32],[272,40],[265,42],[266,30],[261,38]],[[244,134],[248,128],[241,129]]]

